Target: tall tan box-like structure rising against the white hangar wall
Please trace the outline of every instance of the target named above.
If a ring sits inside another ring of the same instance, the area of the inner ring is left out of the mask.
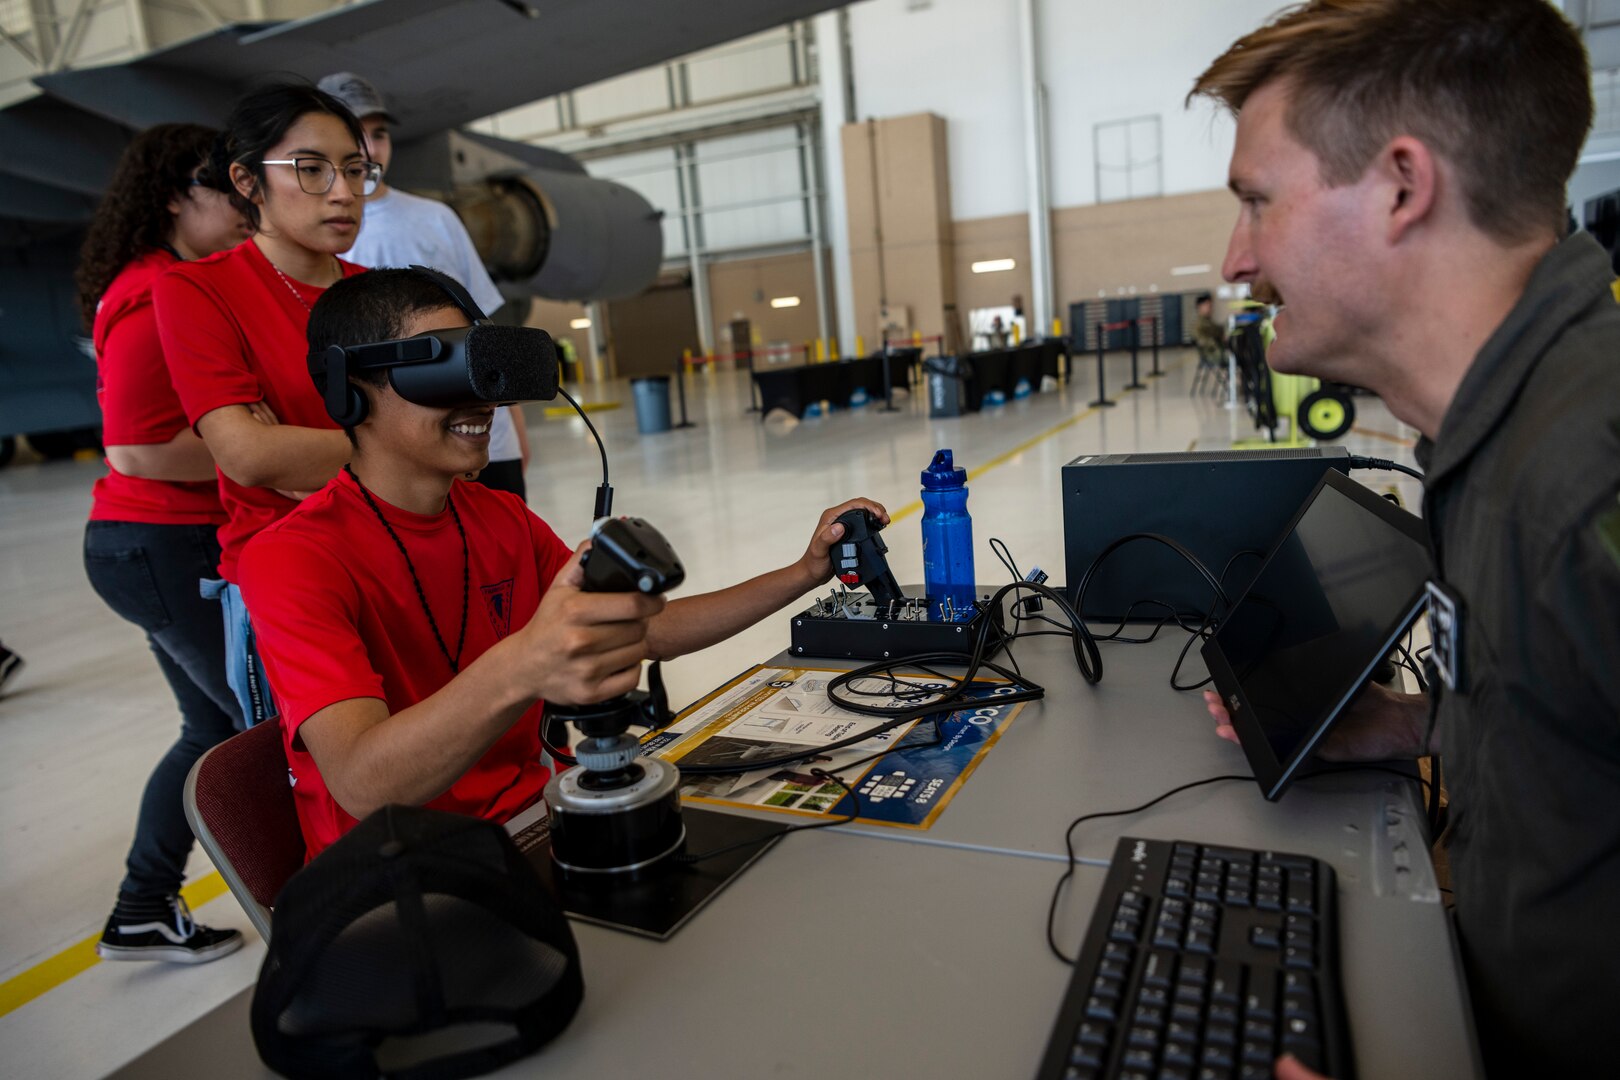
[[[956,303],[944,120],[870,120],[844,125],[841,136],[855,334],[876,347],[883,300],[891,321],[907,309],[912,329],[941,334],[946,304]]]

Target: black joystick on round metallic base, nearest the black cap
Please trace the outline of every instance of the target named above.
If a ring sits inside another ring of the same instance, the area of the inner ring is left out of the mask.
[[[640,518],[604,518],[591,529],[580,559],[585,593],[659,594],[685,580],[669,542]],[[658,664],[648,675],[651,693],[627,695],[585,706],[546,706],[583,737],[575,746],[580,767],[546,785],[551,810],[551,857],[569,873],[635,874],[676,853],[685,842],[680,824],[679,772],[640,756],[632,724],[659,727],[667,703]]]

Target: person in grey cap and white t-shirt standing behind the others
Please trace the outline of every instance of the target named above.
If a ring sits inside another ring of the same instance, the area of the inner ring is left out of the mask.
[[[377,87],[352,71],[329,74],[318,86],[360,118],[371,160],[382,165],[382,181],[366,198],[366,227],[360,230],[360,240],[348,253],[350,259],[369,267],[428,266],[442,270],[462,282],[478,308],[492,316],[504,298],[478,257],[478,248],[467,235],[462,219],[442,202],[389,186],[387,168],[394,159],[397,120]],[[499,408],[489,429],[489,465],[478,474],[478,483],[523,499],[528,494],[523,483],[526,468],[528,431],[523,427],[523,406]]]

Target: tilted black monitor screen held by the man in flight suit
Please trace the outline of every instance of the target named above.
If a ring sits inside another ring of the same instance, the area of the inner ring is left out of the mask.
[[[1424,604],[1419,518],[1327,471],[1204,643],[1254,779],[1275,800]]]

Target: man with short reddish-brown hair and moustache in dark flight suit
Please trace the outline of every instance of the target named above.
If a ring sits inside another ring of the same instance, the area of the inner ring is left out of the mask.
[[[1272,368],[1366,387],[1422,436],[1435,677],[1371,687],[1322,756],[1443,753],[1487,1072],[1612,1075],[1620,308],[1609,254],[1565,235],[1581,36],[1544,0],[1312,0],[1192,92],[1238,117],[1221,275],[1281,306]]]

